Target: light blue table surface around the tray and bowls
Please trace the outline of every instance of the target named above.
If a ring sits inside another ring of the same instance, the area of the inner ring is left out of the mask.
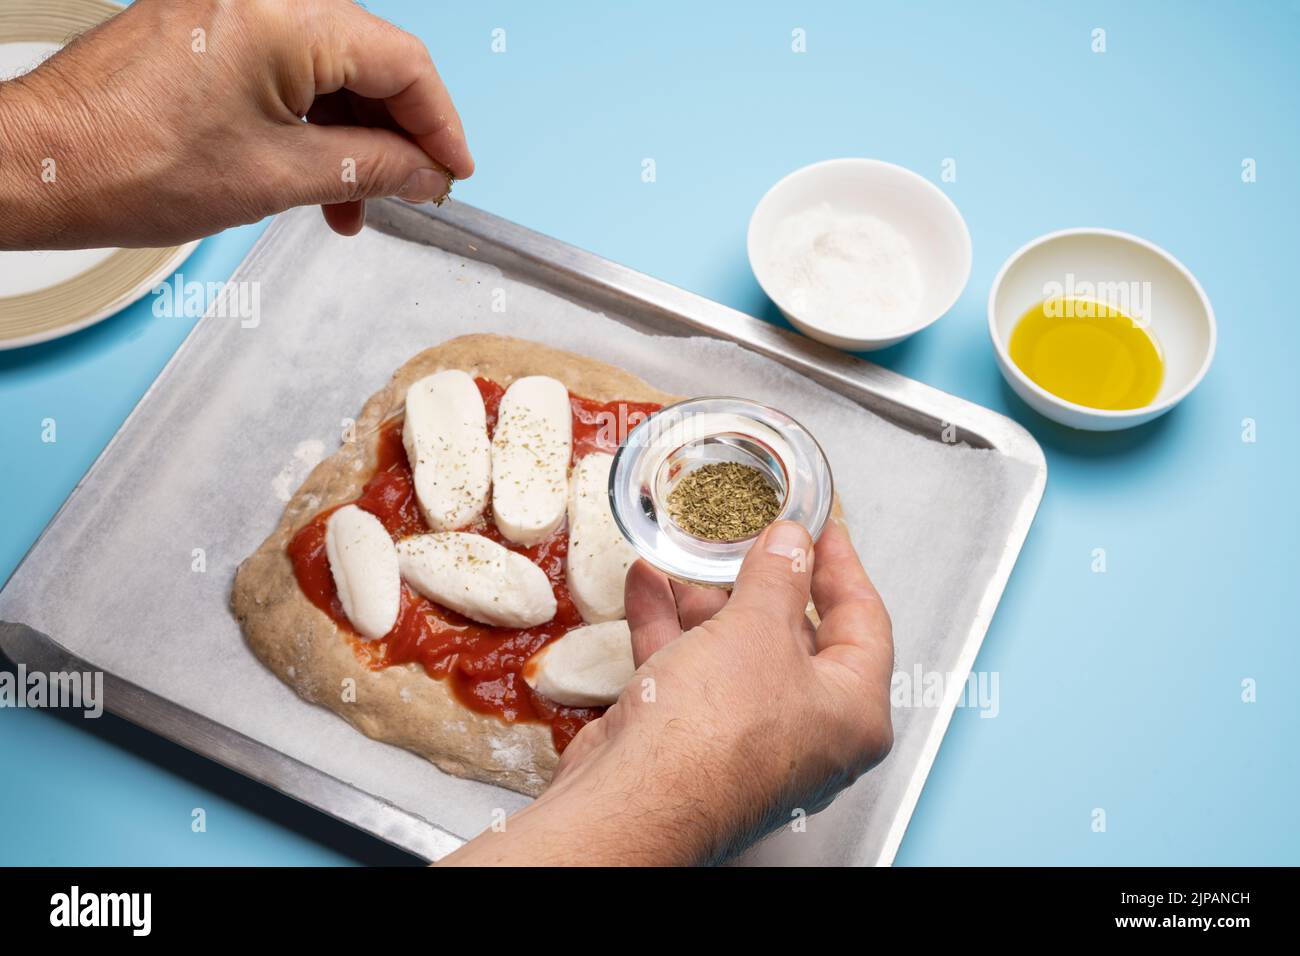
[[[962,209],[961,300],[872,358],[1024,424],[1049,480],[976,663],[1000,713],[957,711],[900,864],[1300,864],[1295,3],[367,5],[429,44],[455,96],[478,163],[459,199],[772,321],[745,228],[792,169],[875,156]],[[988,343],[1002,260],[1078,225],[1165,246],[1218,315],[1200,389],[1132,432],[1037,418]],[[204,241],[185,278],[226,278],[263,228]],[[0,579],[191,325],[144,300],[0,352]],[[0,710],[0,765],[3,864],[406,858],[110,718]]]

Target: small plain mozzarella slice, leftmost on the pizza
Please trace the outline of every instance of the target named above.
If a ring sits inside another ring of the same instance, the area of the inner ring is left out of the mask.
[[[358,633],[382,637],[398,620],[398,551],[380,519],[347,505],[325,522],[325,554],[339,604]]]

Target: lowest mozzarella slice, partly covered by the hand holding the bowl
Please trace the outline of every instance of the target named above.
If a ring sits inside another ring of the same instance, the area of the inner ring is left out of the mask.
[[[524,665],[524,680],[543,697],[571,708],[614,704],[632,680],[632,632],[625,620],[569,631]]]

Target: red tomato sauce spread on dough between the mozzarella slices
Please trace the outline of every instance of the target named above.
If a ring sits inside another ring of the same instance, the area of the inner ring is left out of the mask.
[[[497,425],[497,408],[504,389],[477,378],[488,411],[488,434]],[[593,451],[614,453],[620,438],[659,410],[640,402],[594,402],[569,397],[573,410],[573,460]],[[429,531],[415,497],[411,466],[402,445],[400,419],[384,425],[378,442],[378,463],[361,496],[351,502],[369,511],[394,540]],[[342,507],[339,505],[338,507]],[[568,533],[564,525],[532,548],[520,548],[502,538],[491,520],[491,502],[484,518],[462,531],[489,537],[525,555],[542,568],[555,592],[555,617],[530,628],[493,627],[471,620],[434,604],[402,583],[396,624],[384,637],[365,641],[343,614],[334,578],[325,553],[325,522],[337,509],[316,515],[289,542],[298,585],[308,600],[350,636],[356,656],[369,667],[419,663],[432,678],[447,680],[456,698],[471,710],[495,714],[504,721],[541,721],[551,724],[555,749],[562,750],[603,708],[566,708],[536,693],[523,679],[524,662],[566,632],[580,627],[582,618],[573,606],[564,580]]]

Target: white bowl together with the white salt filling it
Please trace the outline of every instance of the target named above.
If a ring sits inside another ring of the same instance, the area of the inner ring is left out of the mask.
[[[966,287],[971,237],[942,190],[904,166],[837,159],[797,169],[749,221],[754,278],[790,324],[848,351],[901,342]]]

